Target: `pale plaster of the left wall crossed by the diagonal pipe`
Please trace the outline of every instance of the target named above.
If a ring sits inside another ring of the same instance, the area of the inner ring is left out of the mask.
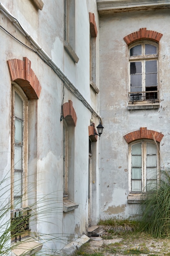
[[[51,56],[68,79],[78,88],[86,101],[97,110],[97,96],[91,97],[90,89],[90,47],[89,47],[89,12],[97,13],[95,1],[76,1],[76,54],[79,62],[75,64],[65,52],[63,45],[64,29],[64,1],[44,0],[42,11],[35,8],[31,0],[21,4],[4,0],[4,6],[13,14],[20,24],[37,41],[43,50]],[[95,8],[94,8],[95,7]],[[22,43],[31,47],[15,25],[0,11],[0,20],[5,29]],[[97,29],[99,30],[96,15]],[[75,157],[73,184],[71,197],[79,207],[68,213],[63,213],[63,123],[60,121],[63,100],[63,82],[46,65],[37,54],[17,42],[3,30],[0,30],[2,40],[0,62],[0,108],[1,114],[1,169],[2,174],[11,168],[11,79],[7,60],[27,57],[31,61],[31,68],[42,86],[40,98],[29,101],[28,125],[28,180],[29,204],[34,204],[35,215],[32,226],[33,232],[42,234],[56,234],[57,239],[49,243],[49,247],[56,251],[65,244],[87,234],[88,228],[88,126],[92,113],[68,89],[64,89],[64,103],[71,100],[77,115],[75,126]],[[99,38],[97,38],[97,49]],[[98,56],[99,58],[99,56]],[[97,74],[99,65],[97,64]],[[98,82],[97,82],[98,83]],[[93,101],[93,102],[92,102]],[[93,117],[96,126],[98,118]],[[95,143],[95,142],[94,142]],[[97,224],[99,216],[98,190],[98,141],[93,147],[93,171],[95,173],[95,200],[93,200],[93,223]],[[96,164],[97,163],[97,164]],[[97,174],[96,174],[97,173]],[[0,174],[1,175],[1,174]],[[9,175],[10,176],[10,175]],[[1,177],[1,176],[0,176]],[[3,176],[2,176],[3,177]],[[9,177],[10,180],[10,177]],[[10,182],[9,182],[10,183]],[[97,192],[96,192],[97,191]],[[9,189],[10,197],[10,189]],[[44,236],[44,238],[46,238]],[[60,240],[61,238],[61,240]],[[44,247],[45,248],[45,247]]]

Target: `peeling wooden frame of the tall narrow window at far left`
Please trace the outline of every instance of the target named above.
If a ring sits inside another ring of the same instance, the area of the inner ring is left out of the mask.
[[[12,138],[11,138],[11,208],[14,210],[14,146],[15,146],[15,92],[23,101],[23,134],[22,134],[22,208],[27,207],[28,175],[28,98],[16,83],[12,85]]]

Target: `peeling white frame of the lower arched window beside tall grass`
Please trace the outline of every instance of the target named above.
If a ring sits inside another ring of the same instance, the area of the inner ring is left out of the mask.
[[[141,191],[132,191],[132,177],[131,177],[131,169],[132,169],[132,146],[135,144],[141,143],[141,173],[142,173],[142,178],[141,178]],[[145,139],[145,140],[137,140],[129,144],[129,152],[128,152],[128,170],[129,170],[129,193],[130,194],[143,194],[147,193],[146,191],[146,144],[154,144],[155,141]],[[156,144],[157,148],[157,184],[160,180],[160,154],[159,154],[159,143],[157,142]]]

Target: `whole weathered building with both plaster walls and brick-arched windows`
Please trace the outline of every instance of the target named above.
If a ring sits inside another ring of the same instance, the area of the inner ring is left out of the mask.
[[[100,219],[140,215],[169,165],[169,11],[170,0],[0,2],[0,234],[22,219],[4,247],[64,254]]]

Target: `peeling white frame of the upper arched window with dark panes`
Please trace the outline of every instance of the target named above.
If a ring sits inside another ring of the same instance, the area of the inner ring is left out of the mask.
[[[141,45],[142,47],[142,54],[140,56],[130,56],[130,49],[132,47],[135,47],[137,45]],[[155,47],[157,47],[157,54],[150,54],[150,55],[145,55],[144,53],[144,45],[153,45]],[[140,41],[140,42],[137,42],[137,43],[134,43],[132,45],[130,45],[130,47],[128,48],[128,56],[129,56],[129,71],[128,71],[128,74],[129,74],[129,88],[128,88],[128,101],[129,102],[132,102],[132,98],[130,96],[132,96],[132,93],[131,93],[131,88],[130,88],[130,63],[131,62],[141,62],[142,63],[142,91],[141,91],[141,94],[142,94],[142,99],[138,99],[136,100],[137,102],[141,102],[141,101],[144,101],[144,102],[148,102],[149,100],[146,100],[146,86],[145,86],[145,70],[144,70],[144,63],[145,61],[152,61],[152,60],[157,60],[157,99],[155,99],[155,101],[152,101],[150,100],[150,102],[152,103],[155,103],[157,101],[159,101],[159,45],[158,43],[154,43],[152,41]]]

